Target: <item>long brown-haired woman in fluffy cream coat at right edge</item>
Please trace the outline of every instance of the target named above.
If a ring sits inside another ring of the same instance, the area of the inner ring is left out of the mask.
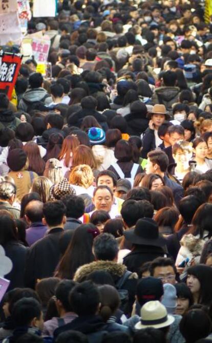
[[[192,228],[184,234],[180,241],[181,248],[178,252],[176,266],[185,259],[189,263],[193,260],[198,263],[203,246],[212,237],[212,204],[204,203],[196,210],[192,220]]]

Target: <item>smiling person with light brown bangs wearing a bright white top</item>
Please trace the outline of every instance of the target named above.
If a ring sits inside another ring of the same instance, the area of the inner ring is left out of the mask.
[[[190,171],[189,161],[192,159],[192,143],[179,141],[172,148],[172,154],[176,162],[175,176],[182,182],[184,176]]]

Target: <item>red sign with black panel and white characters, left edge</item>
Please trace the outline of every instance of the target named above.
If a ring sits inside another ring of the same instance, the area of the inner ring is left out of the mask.
[[[0,92],[4,92],[11,99],[13,88],[18,77],[22,58],[12,54],[0,55]]]

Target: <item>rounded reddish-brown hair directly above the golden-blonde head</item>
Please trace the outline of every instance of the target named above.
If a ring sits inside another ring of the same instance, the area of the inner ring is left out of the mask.
[[[72,166],[76,167],[79,164],[87,164],[92,169],[96,168],[96,160],[89,146],[79,145],[76,147],[73,154]]]

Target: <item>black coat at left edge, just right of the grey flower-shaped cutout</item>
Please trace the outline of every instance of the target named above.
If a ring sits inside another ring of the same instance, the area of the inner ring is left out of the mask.
[[[24,287],[24,270],[28,248],[16,241],[11,241],[4,246],[5,254],[12,261],[13,267],[5,278],[10,281],[8,290]]]

